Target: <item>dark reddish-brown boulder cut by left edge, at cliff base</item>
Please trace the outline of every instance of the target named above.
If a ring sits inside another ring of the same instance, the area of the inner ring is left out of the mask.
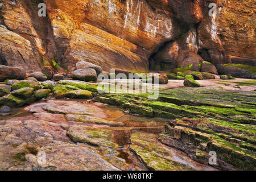
[[[5,81],[6,79],[23,80],[25,78],[26,72],[23,69],[0,65],[0,81]]]

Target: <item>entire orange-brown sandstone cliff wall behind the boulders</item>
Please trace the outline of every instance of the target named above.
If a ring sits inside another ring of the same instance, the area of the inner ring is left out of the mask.
[[[47,16],[38,16],[46,3]],[[255,65],[255,1],[1,0],[0,64],[39,71],[52,60],[148,72],[237,63]]]

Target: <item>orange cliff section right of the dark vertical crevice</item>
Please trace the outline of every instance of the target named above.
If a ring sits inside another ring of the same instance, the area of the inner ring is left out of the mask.
[[[214,1],[217,14],[205,16],[200,24],[199,39],[212,63],[255,65],[254,1]],[[206,60],[208,61],[208,60]]]

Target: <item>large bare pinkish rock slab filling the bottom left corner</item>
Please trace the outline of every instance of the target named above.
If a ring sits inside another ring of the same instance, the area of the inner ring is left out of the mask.
[[[59,123],[32,115],[1,120],[0,170],[119,170],[88,144],[73,143],[66,133]],[[38,160],[40,152],[45,152],[46,163]]]

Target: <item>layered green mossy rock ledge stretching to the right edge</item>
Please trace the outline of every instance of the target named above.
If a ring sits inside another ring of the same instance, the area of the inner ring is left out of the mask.
[[[131,114],[171,119],[159,140],[197,162],[208,164],[209,151],[216,151],[216,168],[255,170],[255,96],[254,92],[175,88],[160,90],[158,100],[148,100],[148,94],[101,94],[93,100]],[[131,150],[143,158],[142,148],[136,147]]]

